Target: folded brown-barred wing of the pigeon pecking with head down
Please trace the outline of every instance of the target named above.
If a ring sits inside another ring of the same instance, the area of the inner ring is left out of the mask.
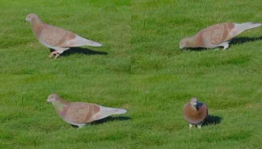
[[[218,45],[232,38],[229,33],[234,26],[235,24],[232,23],[216,24],[202,29],[199,33],[202,34],[202,40],[208,40],[212,45]]]

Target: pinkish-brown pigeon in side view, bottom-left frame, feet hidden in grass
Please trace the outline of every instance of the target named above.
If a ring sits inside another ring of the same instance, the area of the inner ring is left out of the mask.
[[[57,94],[50,94],[47,102],[51,102],[56,113],[68,124],[83,127],[86,123],[103,119],[113,114],[124,114],[126,110],[109,108],[93,103],[67,102]]]

